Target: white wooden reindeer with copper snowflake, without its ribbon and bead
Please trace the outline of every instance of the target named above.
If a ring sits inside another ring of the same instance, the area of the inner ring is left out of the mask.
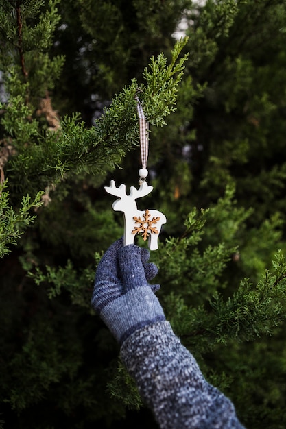
[[[144,180],[141,182],[139,189],[131,186],[130,195],[127,195],[125,184],[121,184],[117,188],[115,181],[111,180],[110,186],[105,186],[104,189],[109,194],[119,197],[112,204],[112,208],[124,214],[124,245],[133,244],[135,235],[141,234],[144,241],[148,238],[148,247],[150,250],[158,249],[158,234],[161,226],[167,222],[167,219],[158,210],[138,210],[135,201],[137,198],[150,194],[153,187],[148,186]]]

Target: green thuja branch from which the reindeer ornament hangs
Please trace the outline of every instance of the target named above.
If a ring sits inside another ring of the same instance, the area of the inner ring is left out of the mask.
[[[141,97],[145,106],[148,106],[148,116],[156,125],[163,125],[167,114],[174,110],[176,92],[186,59],[184,56],[178,60],[178,56],[185,42],[186,40],[181,40],[176,43],[169,66],[167,58],[160,54],[156,60],[152,59],[150,72],[145,71],[146,84],[140,87]],[[62,119],[57,132],[42,131],[37,138],[34,136],[34,128],[33,135],[27,136],[27,128],[12,127],[12,122],[15,123],[19,119],[19,112],[23,112],[23,108],[18,106],[17,110],[12,111],[13,117],[10,116],[9,120],[7,115],[4,115],[3,125],[8,134],[13,130],[13,138],[17,142],[23,142],[25,137],[29,145],[22,145],[21,151],[10,161],[11,170],[25,171],[27,188],[32,186],[29,175],[36,175],[40,186],[44,187],[47,186],[48,177],[49,182],[56,183],[62,180],[62,177],[67,178],[69,171],[73,174],[84,172],[101,175],[110,171],[120,162],[126,151],[139,142],[134,99],[137,89],[138,83],[134,79],[130,86],[123,88],[122,92],[115,96],[110,108],[104,111],[91,129],[87,129],[75,114]],[[25,105],[24,97],[22,103]],[[23,114],[21,121],[23,122]],[[29,121],[27,118],[27,125]]]

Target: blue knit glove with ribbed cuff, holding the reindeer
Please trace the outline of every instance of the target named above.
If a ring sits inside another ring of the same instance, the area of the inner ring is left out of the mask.
[[[159,285],[148,283],[158,269],[148,263],[149,252],[136,245],[123,247],[115,241],[99,262],[91,303],[119,343],[143,326],[165,320],[154,292]]]

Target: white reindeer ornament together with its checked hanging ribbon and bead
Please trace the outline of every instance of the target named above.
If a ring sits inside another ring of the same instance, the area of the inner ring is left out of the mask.
[[[126,194],[126,185],[121,184],[118,188],[115,186],[115,181],[111,180],[110,186],[105,186],[106,192],[119,197],[113,204],[112,208],[115,211],[123,212],[124,215],[124,245],[134,243],[136,234],[141,234],[143,240],[148,238],[148,246],[150,250],[158,249],[158,235],[163,223],[167,219],[163,213],[158,210],[138,210],[136,199],[145,197],[152,192],[153,187],[148,186],[146,177],[148,175],[147,157],[148,157],[148,123],[145,120],[145,115],[141,106],[138,95],[135,97],[137,101],[137,112],[140,125],[140,149],[142,168],[139,170],[139,189],[131,186],[130,194]]]

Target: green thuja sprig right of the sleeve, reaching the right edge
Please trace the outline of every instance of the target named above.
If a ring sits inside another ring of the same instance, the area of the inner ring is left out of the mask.
[[[271,335],[286,317],[286,265],[281,251],[272,265],[257,286],[243,279],[229,297],[215,291],[208,310],[202,305],[193,308],[182,295],[171,293],[165,300],[169,318],[185,345],[203,353],[231,340]]]

